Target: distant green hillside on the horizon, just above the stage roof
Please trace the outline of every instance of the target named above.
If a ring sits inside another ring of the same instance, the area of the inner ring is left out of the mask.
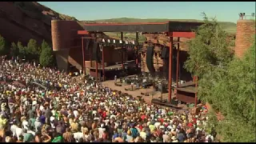
[[[111,19],[98,19],[94,20],[95,22],[166,22],[166,21],[180,21],[180,22],[202,22],[201,20],[196,19],[163,19],[163,18],[149,18],[149,19],[140,19],[140,18],[111,18]],[[234,22],[219,22],[221,26],[229,33],[236,32],[236,24]]]

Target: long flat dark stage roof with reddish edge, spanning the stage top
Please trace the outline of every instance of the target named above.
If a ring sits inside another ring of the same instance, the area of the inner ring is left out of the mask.
[[[150,22],[150,23],[87,23],[84,29],[98,32],[190,32],[203,22]]]

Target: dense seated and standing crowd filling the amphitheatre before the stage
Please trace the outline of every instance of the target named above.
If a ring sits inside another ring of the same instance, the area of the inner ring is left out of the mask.
[[[59,70],[0,64],[0,142],[214,142],[200,114],[139,102]]]

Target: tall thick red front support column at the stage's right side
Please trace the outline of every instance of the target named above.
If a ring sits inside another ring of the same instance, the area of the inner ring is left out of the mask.
[[[169,86],[168,86],[168,90],[169,90],[169,102],[171,102],[171,85],[172,85],[172,59],[173,59],[173,42],[174,42],[174,38],[169,34],[170,36],[170,53],[169,53]]]

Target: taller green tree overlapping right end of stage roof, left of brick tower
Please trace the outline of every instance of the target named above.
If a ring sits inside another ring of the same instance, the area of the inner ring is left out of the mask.
[[[227,34],[215,18],[210,21],[203,13],[204,24],[195,30],[196,38],[190,41],[190,55],[185,68],[199,78],[215,66],[226,66],[233,54],[226,42]]]

